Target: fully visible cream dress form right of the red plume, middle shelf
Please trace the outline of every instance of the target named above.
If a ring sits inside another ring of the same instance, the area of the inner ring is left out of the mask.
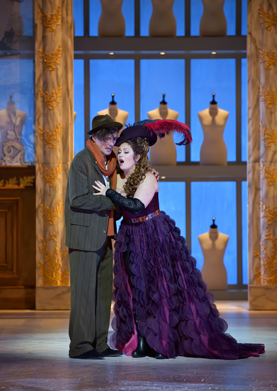
[[[223,139],[224,128],[229,112],[219,109],[212,94],[209,108],[199,111],[198,118],[204,133],[200,150],[200,164],[227,165],[227,148]]]

